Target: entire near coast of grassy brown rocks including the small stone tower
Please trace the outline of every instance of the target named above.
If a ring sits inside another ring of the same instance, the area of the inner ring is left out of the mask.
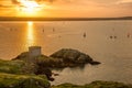
[[[62,48],[46,56],[41,53],[40,46],[31,46],[29,52],[21,53],[12,61],[0,59],[0,88],[132,88],[132,85],[102,80],[84,86],[67,82],[51,86],[50,81],[54,81],[52,75],[55,75],[52,69],[84,67],[86,64],[101,63],[77,50]]]

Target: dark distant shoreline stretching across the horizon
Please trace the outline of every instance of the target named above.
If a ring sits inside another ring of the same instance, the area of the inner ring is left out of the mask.
[[[0,21],[110,21],[110,20],[132,20],[132,16],[122,18],[15,18],[0,16]]]

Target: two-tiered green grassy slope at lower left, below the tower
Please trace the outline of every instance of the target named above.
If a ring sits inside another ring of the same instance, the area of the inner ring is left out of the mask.
[[[32,66],[23,61],[0,59],[0,88],[50,88],[45,75],[34,75]]]

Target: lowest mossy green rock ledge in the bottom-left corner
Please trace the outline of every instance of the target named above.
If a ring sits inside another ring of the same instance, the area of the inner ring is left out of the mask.
[[[51,88],[45,76],[0,73],[0,88]]]

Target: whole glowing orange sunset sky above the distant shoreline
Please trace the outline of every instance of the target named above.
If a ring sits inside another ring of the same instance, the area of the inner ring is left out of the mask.
[[[0,16],[132,16],[132,0],[0,0]]]

